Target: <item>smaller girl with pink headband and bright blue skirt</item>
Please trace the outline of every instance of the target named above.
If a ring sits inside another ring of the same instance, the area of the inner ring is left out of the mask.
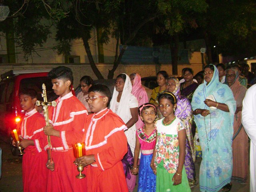
[[[141,151],[138,192],[155,192],[156,175],[150,168],[150,162],[156,144],[156,129],[154,125],[156,107],[153,104],[145,103],[139,107],[139,114],[145,125],[136,131],[132,174],[138,174],[137,163]]]

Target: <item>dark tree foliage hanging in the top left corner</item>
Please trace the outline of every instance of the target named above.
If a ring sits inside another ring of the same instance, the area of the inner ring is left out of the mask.
[[[24,58],[28,60],[32,52],[36,52],[35,47],[42,47],[50,34],[48,24],[42,23],[42,19],[49,17],[36,0],[23,7],[22,2],[15,0],[7,0],[5,3],[10,8],[10,15],[16,14],[0,23],[0,31],[15,34],[17,50],[24,53]]]

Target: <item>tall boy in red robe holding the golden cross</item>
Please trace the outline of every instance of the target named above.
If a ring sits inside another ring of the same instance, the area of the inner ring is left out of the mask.
[[[44,133],[51,136],[52,159],[48,152],[47,168],[49,192],[84,192],[86,178],[77,179],[79,173],[74,165],[72,144],[82,142],[86,124],[87,110],[70,90],[73,73],[70,68],[59,66],[52,69],[48,76],[52,79],[52,89],[59,96],[57,106],[49,107],[50,126]]]

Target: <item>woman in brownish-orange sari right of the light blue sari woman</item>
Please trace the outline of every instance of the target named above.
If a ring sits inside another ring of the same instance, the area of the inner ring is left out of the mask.
[[[234,135],[232,142],[233,172],[232,180],[246,184],[248,169],[248,136],[241,124],[242,102],[246,88],[239,82],[239,72],[236,68],[226,70],[225,83],[230,87],[236,100],[236,112],[234,116]]]

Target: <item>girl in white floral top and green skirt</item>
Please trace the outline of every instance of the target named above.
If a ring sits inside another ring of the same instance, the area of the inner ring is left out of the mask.
[[[158,100],[164,118],[156,122],[157,140],[150,164],[156,173],[156,192],[190,192],[184,168],[186,130],[174,116],[177,99],[173,93],[164,92]]]

